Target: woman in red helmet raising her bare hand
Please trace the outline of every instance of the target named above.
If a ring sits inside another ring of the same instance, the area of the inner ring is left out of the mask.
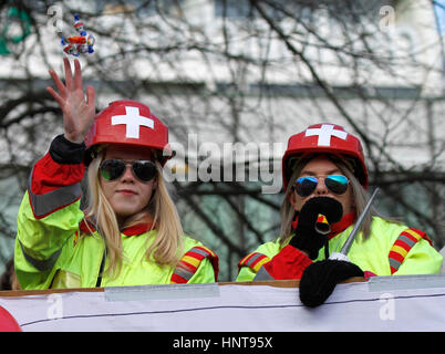
[[[218,258],[183,235],[162,167],[168,128],[146,105],[112,102],[95,115],[94,88],[64,59],[50,71],[64,134],[31,173],[18,216],[14,266],[22,289],[214,282]],[[87,202],[80,210],[87,167]]]

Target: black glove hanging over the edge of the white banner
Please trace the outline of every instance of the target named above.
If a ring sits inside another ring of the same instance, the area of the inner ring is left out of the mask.
[[[339,282],[352,277],[364,277],[354,263],[332,259],[312,263],[300,280],[300,301],[309,308],[321,305]]]

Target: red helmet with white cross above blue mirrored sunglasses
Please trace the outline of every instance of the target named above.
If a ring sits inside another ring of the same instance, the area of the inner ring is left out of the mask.
[[[294,158],[301,158],[309,154],[332,154],[341,158],[352,159],[354,175],[360,184],[368,188],[368,169],[359,138],[345,132],[340,125],[321,123],[311,125],[306,131],[289,138],[288,148],[282,157],[284,190],[292,174]]]

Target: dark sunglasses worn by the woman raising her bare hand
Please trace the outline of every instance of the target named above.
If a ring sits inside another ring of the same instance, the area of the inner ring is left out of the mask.
[[[156,176],[156,165],[151,160],[133,160],[127,162],[123,159],[106,159],[102,162],[99,170],[101,175],[106,180],[115,180],[120,178],[126,169],[126,166],[132,166],[133,176],[135,176],[141,181],[151,181]]]

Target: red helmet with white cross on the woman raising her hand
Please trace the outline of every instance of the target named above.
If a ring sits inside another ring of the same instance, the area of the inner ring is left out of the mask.
[[[86,166],[102,144],[155,148],[159,152],[158,160],[163,166],[172,157],[168,127],[152,114],[148,106],[131,100],[114,101],[96,115],[85,138]]]

